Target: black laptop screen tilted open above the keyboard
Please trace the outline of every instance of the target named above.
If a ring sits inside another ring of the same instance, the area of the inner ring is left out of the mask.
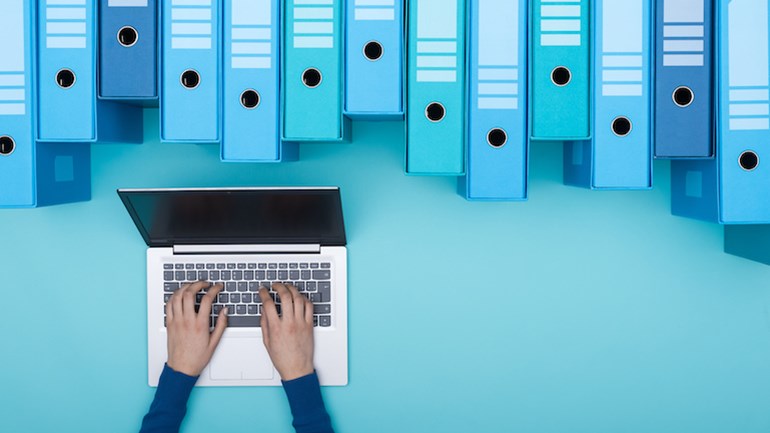
[[[338,188],[118,190],[151,247],[345,245]]]

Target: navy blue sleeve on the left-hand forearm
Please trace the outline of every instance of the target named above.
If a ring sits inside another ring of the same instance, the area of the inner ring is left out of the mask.
[[[150,411],[142,420],[140,433],[178,432],[187,413],[187,400],[197,381],[197,376],[179,373],[166,364]]]

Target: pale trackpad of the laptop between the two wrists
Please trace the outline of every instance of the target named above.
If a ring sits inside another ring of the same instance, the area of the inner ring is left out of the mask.
[[[211,359],[212,380],[273,378],[273,363],[261,338],[223,338]]]

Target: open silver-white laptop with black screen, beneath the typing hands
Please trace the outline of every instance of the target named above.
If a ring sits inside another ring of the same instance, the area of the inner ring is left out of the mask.
[[[165,302],[197,280],[224,285],[212,326],[216,313],[225,306],[229,311],[228,328],[197,386],[281,384],[259,326],[257,292],[274,282],[294,284],[314,303],[321,385],[347,385],[347,249],[339,188],[119,189],[118,195],[149,247],[150,386],[158,385],[167,359]]]

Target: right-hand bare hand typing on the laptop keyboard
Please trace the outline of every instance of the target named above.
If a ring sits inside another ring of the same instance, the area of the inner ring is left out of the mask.
[[[262,341],[267,353],[284,381],[307,376],[313,368],[313,303],[284,284],[273,284],[281,298],[282,315],[278,317],[275,302],[264,287],[262,298]]]

